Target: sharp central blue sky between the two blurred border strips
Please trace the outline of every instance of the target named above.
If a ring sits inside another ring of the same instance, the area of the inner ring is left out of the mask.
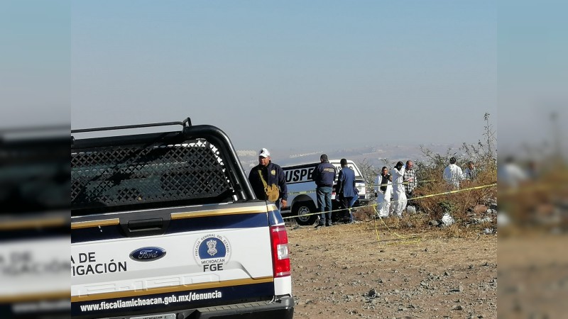
[[[73,128],[217,125],[236,147],[476,141],[492,1],[76,1]]]

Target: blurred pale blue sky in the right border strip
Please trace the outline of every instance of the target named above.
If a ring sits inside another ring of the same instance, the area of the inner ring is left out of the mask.
[[[547,155],[559,140],[568,155],[568,3],[498,4],[498,149]]]

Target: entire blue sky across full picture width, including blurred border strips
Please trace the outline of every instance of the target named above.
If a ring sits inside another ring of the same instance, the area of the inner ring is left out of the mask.
[[[564,1],[1,5],[0,128],[190,116],[310,151],[475,142],[488,112],[506,150],[566,121]]]

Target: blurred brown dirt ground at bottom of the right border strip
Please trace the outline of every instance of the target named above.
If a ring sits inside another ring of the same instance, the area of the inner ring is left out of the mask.
[[[499,238],[498,317],[568,318],[568,235]]]

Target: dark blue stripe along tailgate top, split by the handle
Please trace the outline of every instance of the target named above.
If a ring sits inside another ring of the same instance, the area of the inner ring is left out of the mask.
[[[266,213],[182,218],[170,220],[170,225],[165,230],[165,235],[212,229],[258,228],[268,227],[268,225]],[[125,237],[126,235],[124,235],[120,225],[77,228],[71,230],[72,243],[111,240]]]

